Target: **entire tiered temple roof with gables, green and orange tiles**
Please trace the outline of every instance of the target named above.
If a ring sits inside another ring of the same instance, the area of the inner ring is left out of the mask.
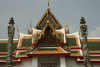
[[[58,67],[60,63],[63,64],[62,60],[65,61],[65,58],[75,58],[75,63],[83,63],[83,39],[80,38],[79,30],[69,33],[69,28],[66,31],[66,27],[67,24],[64,27],[61,26],[48,6],[35,28],[31,26],[31,32],[28,30],[29,33],[24,34],[17,29],[19,35],[18,39],[13,39],[12,60],[16,64],[21,64],[23,60],[31,59],[31,62],[36,61],[34,64],[37,66],[38,59],[53,62],[52,60],[57,57],[57,61],[54,60],[54,62],[57,62]],[[87,41],[90,62],[100,63],[100,37],[87,38]],[[7,45],[8,39],[0,39],[0,64],[6,64]],[[64,67],[66,67],[65,64]]]

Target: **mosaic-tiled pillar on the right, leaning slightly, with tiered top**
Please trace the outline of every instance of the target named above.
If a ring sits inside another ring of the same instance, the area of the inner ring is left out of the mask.
[[[87,45],[87,25],[85,25],[85,19],[84,17],[81,18],[80,20],[80,30],[81,30],[81,36],[83,37],[83,56],[84,56],[84,65],[86,67],[93,67],[93,65],[90,63],[90,58],[89,58],[89,52],[88,52],[88,45]]]

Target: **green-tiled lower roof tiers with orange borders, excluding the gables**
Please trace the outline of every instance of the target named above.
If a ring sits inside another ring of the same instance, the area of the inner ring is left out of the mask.
[[[41,32],[41,31],[40,31]],[[37,33],[37,32],[36,32]],[[34,34],[36,34],[34,33]],[[38,33],[39,34],[39,33]],[[65,49],[62,49],[62,47],[56,47],[56,48],[42,48],[37,47],[29,56],[26,53],[26,46],[28,45],[28,49],[31,48],[32,44],[32,35],[19,33],[18,39],[14,39],[13,43],[13,61],[16,63],[20,63],[21,59],[28,59],[30,55],[44,55],[45,53],[53,53],[53,55],[65,55],[68,57],[77,58],[78,62],[83,62],[83,52],[82,52],[82,39],[80,39],[78,31],[72,34],[66,34],[66,43],[67,48],[71,46],[71,52],[65,51]],[[100,58],[100,38],[88,38],[88,47],[89,47],[89,54],[90,54],[90,61],[96,62],[96,60],[99,60]],[[6,56],[7,56],[7,43],[8,39],[0,39],[0,63],[4,62],[6,63]],[[2,49],[3,48],[3,49]],[[16,51],[16,52],[15,52]],[[38,52],[38,53],[37,53]],[[36,54],[37,53],[37,54]],[[42,53],[42,54],[41,54]],[[57,54],[61,53],[61,54]],[[51,56],[51,54],[49,54]],[[47,54],[45,54],[47,56]]]

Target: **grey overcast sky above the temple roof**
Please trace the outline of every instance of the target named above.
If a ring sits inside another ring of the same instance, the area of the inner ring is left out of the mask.
[[[49,0],[49,6],[62,26],[68,22],[70,33],[79,30],[83,16],[88,25],[88,37],[100,37],[100,0]],[[47,7],[48,0],[0,0],[0,39],[8,38],[7,26],[11,17],[17,39],[17,26],[21,33],[27,34],[27,29],[31,30],[30,21],[35,27]]]

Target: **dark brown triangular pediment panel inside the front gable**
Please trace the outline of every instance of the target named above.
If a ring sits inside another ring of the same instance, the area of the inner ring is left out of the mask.
[[[46,27],[46,26],[45,26]],[[44,29],[43,36],[38,41],[38,46],[47,46],[47,47],[57,47],[60,46],[59,41],[57,40],[56,36],[53,34],[53,30],[51,26],[47,26],[46,29]]]

